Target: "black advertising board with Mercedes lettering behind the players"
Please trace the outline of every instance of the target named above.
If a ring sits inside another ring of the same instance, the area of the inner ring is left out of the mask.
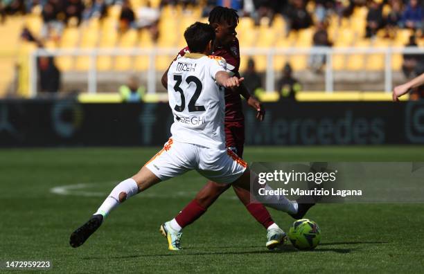
[[[424,143],[424,102],[275,102],[258,122],[246,109],[248,145]],[[166,103],[81,104],[76,100],[0,101],[0,146],[163,145]]]

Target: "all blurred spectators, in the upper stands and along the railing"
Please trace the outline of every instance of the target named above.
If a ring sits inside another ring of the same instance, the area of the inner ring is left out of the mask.
[[[143,6],[134,7],[129,0],[0,0],[0,21],[5,20],[7,15],[26,14],[36,6],[39,7],[43,20],[41,39],[37,40],[27,29],[24,29],[21,37],[35,41],[41,47],[39,41],[51,39],[52,33],[60,38],[66,26],[79,26],[93,18],[101,20],[107,15],[109,7],[116,5],[120,6],[116,28],[121,33],[131,28],[147,28],[153,41],[159,37],[159,18],[165,6],[182,6],[184,12],[190,12],[193,6],[200,6],[203,17],[207,17],[214,6],[226,6],[237,10],[240,17],[251,17],[257,26],[263,26],[264,22],[272,26],[276,15],[281,15],[286,23],[286,29],[281,32],[286,35],[313,27],[313,46],[333,46],[328,35],[330,18],[332,22],[337,18],[342,25],[345,18],[353,17],[357,7],[366,7],[364,37],[357,39],[373,38],[382,32],[386,38],[391,39],[396,37],[397,30],[404,28],[414,33],[405,46],[417,46],[416,39],[423,39],[424,33],[424,0],[161,0],[159,5],[154,6],[150,5],[150,1],[143,3]],[[423,59],[423,55],[405,54],[405,77],[414,77],[424,72]],[[51,63],[51,60],[44,60],[44,63]],[[42,67],[51,69],[51,66],[45,64]],[[325,64],[325,55],[310,55],[308,66],[312,71],[321,73]],[[256,75],[253,60],[249,62],[246,73],[250,75],[247,79],[251,80],[248,84],[252,90],[263,89],[262,75]],[[282,97],[293,99],[300,84],[291,78],[291,73],[290,65],[284,66],[281,74],[286,78],[279,82],[279,92]]]

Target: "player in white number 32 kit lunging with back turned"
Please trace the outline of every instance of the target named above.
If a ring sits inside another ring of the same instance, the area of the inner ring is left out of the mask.
[[[238,86],[243,78],[230,77],[222,57],[207,56],[215,38],[212,26],[196,22],[187,28],[184,38],[191,53],[175,60],[168,71],[169,104],[174,115],[171,138],[137,174],[116,185],[89,221],[71,234],[71,246],[82,245],[126,199],[190,170],[211,181],[233,183],[250,191],[247,163],[226,149],[224,134],[223,88]],[[298,211],[297,203],[283,196],[261,197],[260,201],[289,214]],[[173,241],[172,235],[164,232],[168,241]]]

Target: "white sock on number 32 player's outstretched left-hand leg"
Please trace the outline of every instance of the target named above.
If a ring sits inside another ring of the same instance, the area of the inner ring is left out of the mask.
[[[134,179],[126,179],[121,183],[118,183],[116,187],[110,192],[109,196],[102,203],[100,208],[96,211],[96,214],[102,214],[106,217],[109,212],[116,208],[120,203],[126,199],[134,196],[139,192],[139,186]],[[122,194],[121,194],[122,193]],[[121,194],[121,201],[119,195]]]

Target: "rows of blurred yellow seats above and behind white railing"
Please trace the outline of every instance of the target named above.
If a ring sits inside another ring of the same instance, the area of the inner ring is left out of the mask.
[[[144,6],[148,0],[130,0],[132,8]],[[160,0],[150,1],[152,6],[159,6]],[[308,8],[313,8],[311,2]],[[16,24],[9,25],[10,28],[6,35],[0,31],[2,37],[9,37],[19,33],[24,24],[30,30],[39,35],[42,29],[42,17],[40,9],[35,9],[25,17],[21,17]],[[387,14],[390,11],[389,6],[385,5],[383,12]],[[186,10],[182,10],[182,6],[164,6],[161,10],[161,20],[159,21],[159,39],[157,42],[152,41],[152,37],[147,29],[137,32],[136,30],[127,30],[121,34],[118,32],[118,17],[121,13],[121,6],[111,6],[107,10],[105,19],[90,19],[82,23],[80,26],[71,24],[64,29],[59,42],[48,40],[45,42],[46,48],[183,48],[186,42],[183,37],[184,30],[187,26],[195,21],[207,21],[207,18],[200,18],[202,8],[200,6],[189,6]],[[350,18],[342,18],[339,20],[337,15],[330,15],[328,18],[328,35],[330,40],[334,42],[335,48],[353,46],[360,48],[362,46],[372,46],[373,48],[387,48],[388,46],[402,47],[407,44],[409,36],[412,35],[411,30],[399,29],[392,41],[385,38],[385,30],[380,30],[375,40],[370,42],[364,39],[366,7],[357,7],[353,11]],[[14,17],[10,20],[13,22]],[[9,21],[9,20],[8,20]],[[18,24],[19,22],[19,24]],[[240,21],[236,31],[240,40],[241,48],[258,47],[258,48],[309,48],[312,46],[312,37],[315,28],[290,32],[285,35],[286,22],[281,15],[276,15],[271,27],[268,27],[267,19],[260,21],[260,26],[254,26],[254,20],[249,17],[240,17]],[[1,30],[1,26],[0,26]],[[419,35],[419,34],[418,34]],[[418,44],[424,46],[424,39],[418,39]],[[14,47],[10,43],[3,43],[5,47],[2,50],[13,51]],[[0,45],[1,46],[1,45]],[[177,54],[177,53],[175,53]],[[157,56],[155,66],[158,71],[164,71],[168,68],[173,55]],[[392,56],[391,68],[398,71],[401,69],[403,57],[401,54]],[[242,56],[240,70],[247,66],[248,56]],[[267,68],[267,57],[265,55],[254,55],[256,69],[265,71]],[[275,70],[281,70],[285,62],[291,62],[294,70],[304,70],[308,68],[308,55],[276,55],[273,60]],[[71,57],[62,56],[57,58],[57,64],[62,71],[89,69],[89,58],[87,56]],[[128,71],[136,69],[137,71],[145,71],[148,69],[148,56],[99,56],[97,67],[100,71],[116,70]],[[385,57],[382,54],[354,54],[354,55],[333,55],[333,69],[335,70],[368,70],[381,71],[384,69]],[[1,72],[1,71],[0,71]],[[0,91],[1,93],[1,91]]]

